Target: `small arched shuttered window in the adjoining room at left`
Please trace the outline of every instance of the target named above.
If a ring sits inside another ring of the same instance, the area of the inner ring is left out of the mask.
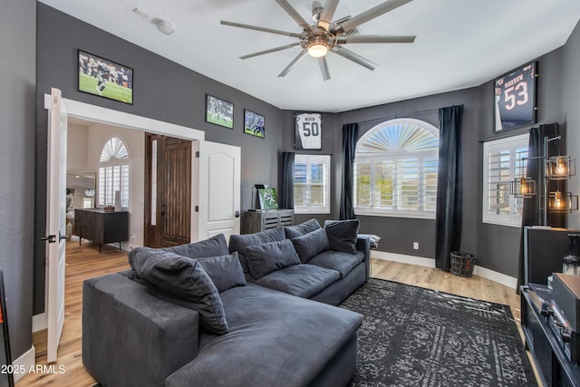
[[[117,192],[121,208],[129,208],[129,152],[118,137],[111,137],[102,147],[99,162],[97,204],[115,206]]]

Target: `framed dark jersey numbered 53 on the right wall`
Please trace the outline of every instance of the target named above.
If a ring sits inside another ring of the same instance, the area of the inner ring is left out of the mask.
[[[494,131],[537,121],[537,63],[527,63],[494,81]]]

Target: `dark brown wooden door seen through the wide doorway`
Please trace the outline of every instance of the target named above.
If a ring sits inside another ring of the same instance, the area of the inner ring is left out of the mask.
[[[149,134],[146,154],[145,246],[189,243],[191,141]]]

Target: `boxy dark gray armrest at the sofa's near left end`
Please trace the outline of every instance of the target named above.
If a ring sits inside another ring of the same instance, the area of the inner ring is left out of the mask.
[[[82,284],[82,363],[102,385],[165,385],[198,355],[198,312],[115,273]]]

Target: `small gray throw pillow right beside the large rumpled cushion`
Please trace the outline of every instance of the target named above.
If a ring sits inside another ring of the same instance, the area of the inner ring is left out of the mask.
[[[218,288],[219,293],[234,286],[246,285],[246,276],[244,276],[244,270],[237,259],[236,251],[226,256],[199,258],[198,261]]]

